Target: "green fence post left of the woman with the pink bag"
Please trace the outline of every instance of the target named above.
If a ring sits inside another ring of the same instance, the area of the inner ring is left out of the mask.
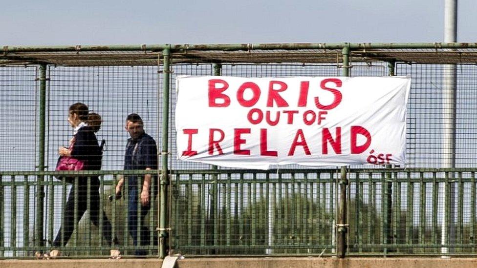
[[[46,110],[46,64],[40,64],[40,116],[39,116],[39,128],[38,128],[38,170],[44,171],[45,164],[45,110]],[[36,207],[36,224],[35,224],[35,241],[37,247],[44,246],[43,240],[43,199],[44,199],[44,186],[43,175],[37,178],[37,207]]]

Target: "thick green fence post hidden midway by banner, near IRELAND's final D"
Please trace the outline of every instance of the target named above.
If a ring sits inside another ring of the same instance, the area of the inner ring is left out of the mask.
[[[343,47],[342,55],[343,55],[343,76],[349,76],[349,44]],[[338,224],[337,224],[337,236],[336,236],[336,245],[337,245],[337,253],[339,258],[344,258],[346,255],[347,250],[347,185],[348,180],[346,176],[346,168],[344,166],[341,167],[341,176],[339,179],[340,185],[340,203],[339,203],[339,211],[338,211]]]

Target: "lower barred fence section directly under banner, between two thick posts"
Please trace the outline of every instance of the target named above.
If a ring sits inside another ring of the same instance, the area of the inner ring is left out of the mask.
[[[173,177],[171,243],[182,254],[333,254],[335,171]]]

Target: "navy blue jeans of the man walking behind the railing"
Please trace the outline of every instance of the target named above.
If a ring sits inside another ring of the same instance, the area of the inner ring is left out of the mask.
[[[147,246],[150,242],[149,237],[149,228],[148,224],[144,222],[144,217],[149,212],[151,208],[151,194],[150,194],[150,202],[147,206],[142,206],[140,202],[140,194],[137,192],[137,187],[128,187],[129,190],[129,197],[128,197],[128,231],[130,236],[132,237],[132,244],[134,246]],[[138,205],[139,205],[139,213],[138,213]],[[138,221],[138,216],[139,221]],[[139,234],[138,234],[138,226],[139,226]],[[146,255],[147,251],[144,249],[137,249],[135,255]]]

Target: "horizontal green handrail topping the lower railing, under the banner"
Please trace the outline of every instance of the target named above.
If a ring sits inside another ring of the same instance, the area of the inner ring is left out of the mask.
[[[178,169],[169,170],[170,174],[305,174],[339,173],[340,169]],[[348,173],[473,173],[477,168],[348,168]],[[0,171],[1,176],[87,176],[87,175],[143,175],[159,174],[160,170],[84,170],[84,171]]]

